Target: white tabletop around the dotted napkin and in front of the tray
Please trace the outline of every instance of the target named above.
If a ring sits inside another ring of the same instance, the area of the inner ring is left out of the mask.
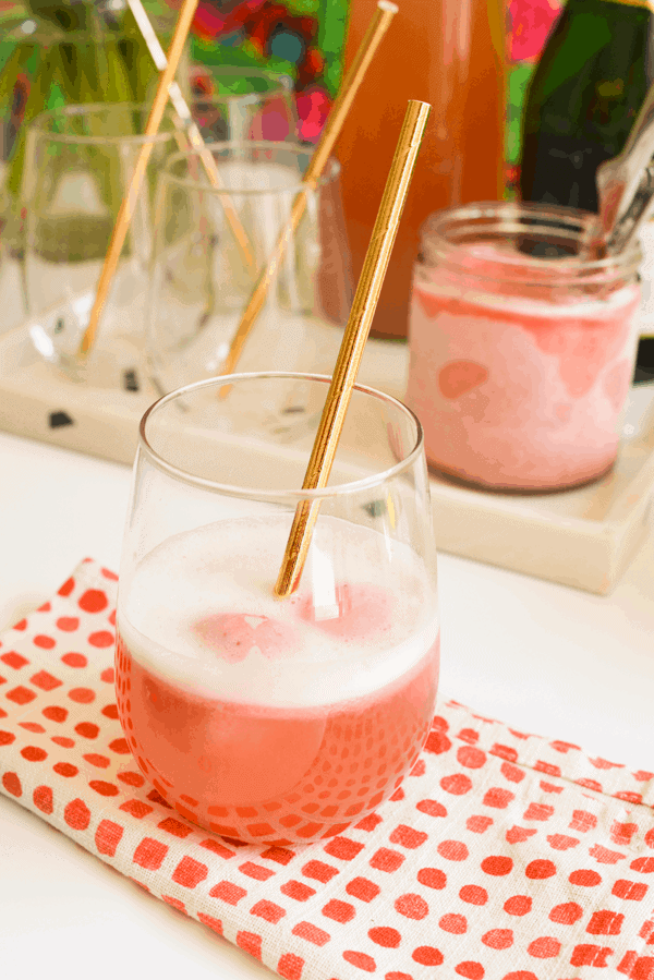
[[[130,480],[126,467],[0,433],[0,627],[83,557],[118,568]],[[522,730],[652,769],[653,537],[608,597],[443,555],[441,691]],[[271,975],[0,796],[0,976]]]

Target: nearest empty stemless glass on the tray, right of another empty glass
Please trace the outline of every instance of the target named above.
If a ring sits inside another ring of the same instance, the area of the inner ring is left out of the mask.
[[[312,150],[293,143],[209,145],[221,189],[195,153],[175,154],[159,179],[148,303],[148,363],[164,394],[220,372],[230,341],[289,219]],[[290,232],[279,271],[238,370],[331,371],[352,298],[340,208],[339,165],[330,161]],[[249,267],[227,207],[238,215]]]

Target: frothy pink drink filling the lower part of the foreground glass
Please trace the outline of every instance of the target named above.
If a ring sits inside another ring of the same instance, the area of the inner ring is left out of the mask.
[[[438,678],[409,551],[391,590],[383,537],[322,518],[304,584],[280,603],[288,527],[227,520],[168,540],[118,619],[119,714],[144,774],[193,822],[268,844],[338,834],[379,806],[417,758]],[[339,581],[325,556],[346,544],[358,557]]]

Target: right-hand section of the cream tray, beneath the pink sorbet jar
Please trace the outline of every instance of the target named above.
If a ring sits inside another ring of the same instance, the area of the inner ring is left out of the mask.
[[[610,473],[557,494],[504,495],[433,477],[438,547],[601,595],[651,531],[654,385],[631,389]]]

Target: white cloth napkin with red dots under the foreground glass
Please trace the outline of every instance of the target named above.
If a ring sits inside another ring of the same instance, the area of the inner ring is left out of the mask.
[[[0,642],[0,789],[286,980],[654,980],[654,773],[440,702],[393,797],[256,847],[180,818],[113,691],[116,576],[83,562]]]

